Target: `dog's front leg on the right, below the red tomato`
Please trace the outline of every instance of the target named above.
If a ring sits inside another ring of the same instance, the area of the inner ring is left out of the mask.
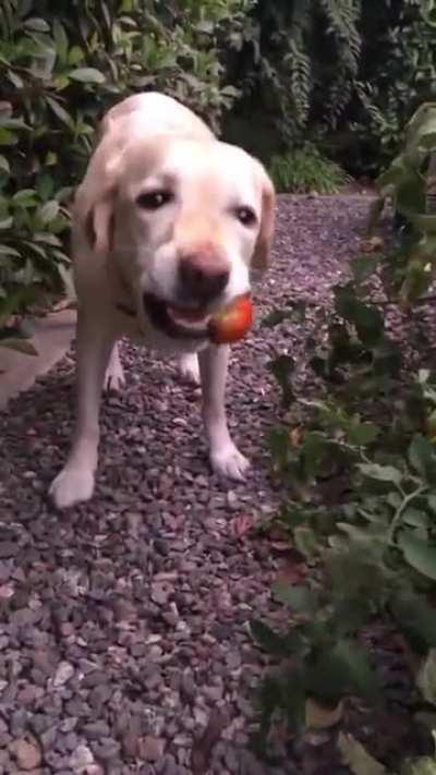
[[[230,348],[208,347],[198,354],[203,390],[203,420],[210,464],[218,474],[243,480],[249,461],[231,439],[226,416],[226,380]]]

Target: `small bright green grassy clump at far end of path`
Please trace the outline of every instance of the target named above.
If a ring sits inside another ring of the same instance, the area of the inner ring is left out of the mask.
[[[349,180],[339,165],[306,147],[272,156],[269,172],[279,192],[335,194]]]

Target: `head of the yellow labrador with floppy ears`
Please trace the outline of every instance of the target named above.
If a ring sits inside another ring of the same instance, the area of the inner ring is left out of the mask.
[[[268,265],[275,192],[265,169],[217,141],[167,135],[104,150],[80,196],[86,239],[117,263],[140,318],[173,336],[204,330],[214,310],[250,290],[251,267]]]

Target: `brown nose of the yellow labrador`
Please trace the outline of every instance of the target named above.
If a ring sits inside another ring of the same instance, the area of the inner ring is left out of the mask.
[[[179,263],[179,280],[183,295],[202,302],[213,301],[229,281],[229,267],[221,258],[202,253],[183,256]]]

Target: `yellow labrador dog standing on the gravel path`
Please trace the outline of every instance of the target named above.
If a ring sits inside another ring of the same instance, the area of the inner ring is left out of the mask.
[[[267,266],[274,209],[263,166],[174,99],[137,94],[106,114],[73,207],[77,416],[50,487],[58,508],[93,495],[101,390],[123,384],[121,337],[199,375],[211,467],[243,479],[225,410],[229,347],[205,327],[250,290],[251,267]]]

